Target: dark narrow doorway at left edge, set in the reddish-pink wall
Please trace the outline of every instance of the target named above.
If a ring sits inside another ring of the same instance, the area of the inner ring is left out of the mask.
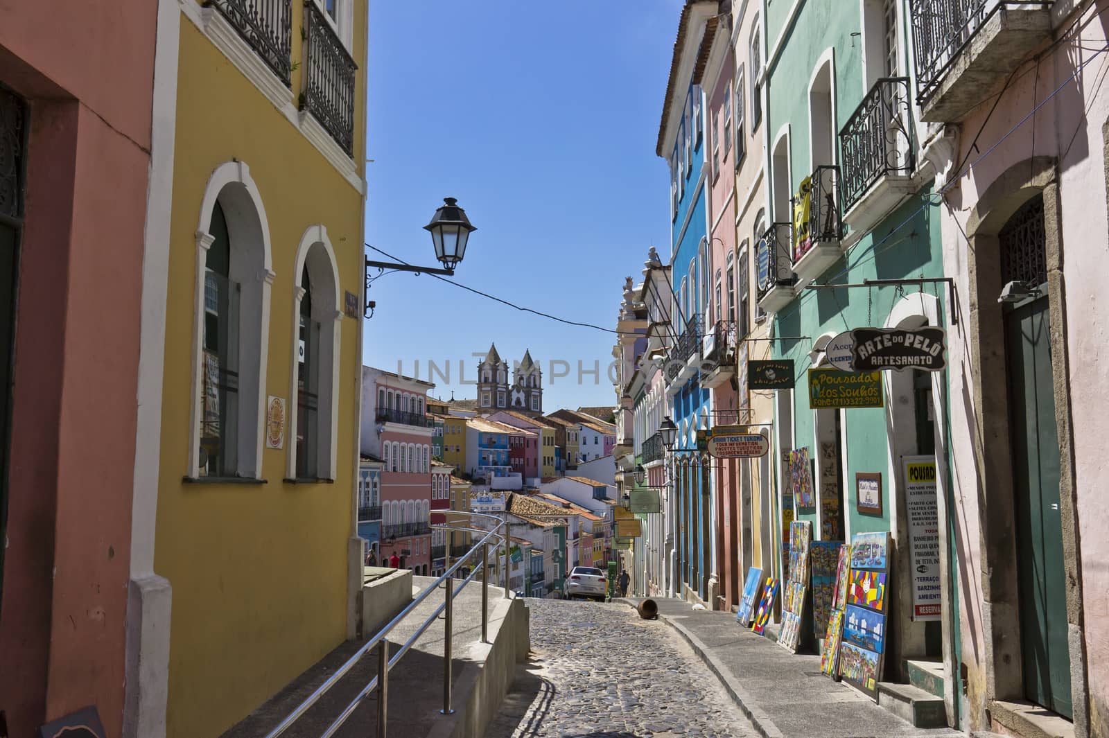
[[[23,225],[23,161],[27,106],[0,84],[0,599],[8,536],[8,437],[14,365],[16,284]]]

